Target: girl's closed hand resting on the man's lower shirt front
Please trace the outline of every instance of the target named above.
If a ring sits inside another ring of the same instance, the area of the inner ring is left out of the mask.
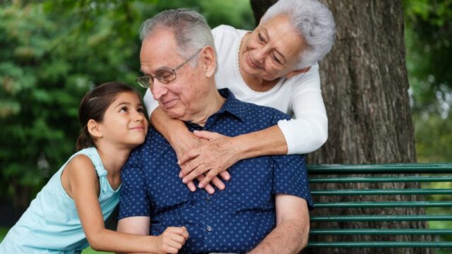
[[[157,236],[158,253],[177,253],[188,238],[189,232],[186,231],[185,226],[171,226],[165,229],[160,236]]]

